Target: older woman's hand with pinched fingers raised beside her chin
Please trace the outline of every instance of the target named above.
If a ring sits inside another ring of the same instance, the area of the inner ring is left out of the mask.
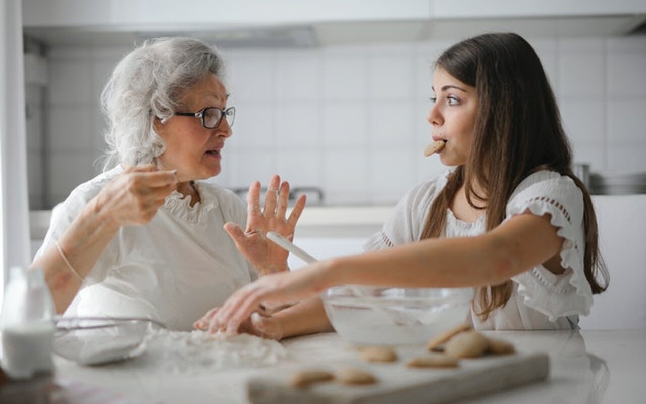
[[[174,171],[153,164],[128,167],[96,196],[96,206],[116,226],[146,224],[176,188]]]

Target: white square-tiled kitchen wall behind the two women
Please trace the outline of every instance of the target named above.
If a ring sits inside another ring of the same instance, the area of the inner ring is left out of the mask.
[[[556,92],[576,162],[646,171],[646,36],[531,40]],[[424,158],[431,65],[451,43],[223,49],[233,137],[224,187],[324,189],[328,204],[393,204],[442,170]],[[126,48],[50,48],[48,87],[27,85],[31,209],[50,208],[102,169],[99,94]]]

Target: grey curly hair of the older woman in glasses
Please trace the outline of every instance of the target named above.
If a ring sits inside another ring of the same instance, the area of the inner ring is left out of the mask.
[[[123,57],[101,92],[108,120],[104,169],[150,163],[165,150],[154,130],[176,112],[186,89],[209,73],[224,76],[219,52],[199,39],[161,37]]]

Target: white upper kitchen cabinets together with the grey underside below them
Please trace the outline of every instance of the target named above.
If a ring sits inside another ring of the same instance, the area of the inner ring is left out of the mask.
[[[54,46],[190,35],[221,47],[454,41],[483,32],[612,37],[643,32],[638,0],[23,0],[25,34]]]

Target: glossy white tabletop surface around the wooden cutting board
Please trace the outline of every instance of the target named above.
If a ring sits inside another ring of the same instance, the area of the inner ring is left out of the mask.
[[[642,403],[646,397],[646,330],[486,334],[511,341],[520,353],[546,352],[550,356],[550,376],[547,381],[466,402]],[[287,359],[269,369],[237,368],[207,374],[160,376],[156,370],[153,376],[142,357],[104,367],[80,367],[57,357],[56,380],[74,386],[74,392],[86,392],[83,401],[70,395],[67,401],[70,404],[246,403],[245,383],[249,377],[356,356],[351,346],[335,333],[297,337],[283,345]],[[88,391],[92,393],[87,394]]]

